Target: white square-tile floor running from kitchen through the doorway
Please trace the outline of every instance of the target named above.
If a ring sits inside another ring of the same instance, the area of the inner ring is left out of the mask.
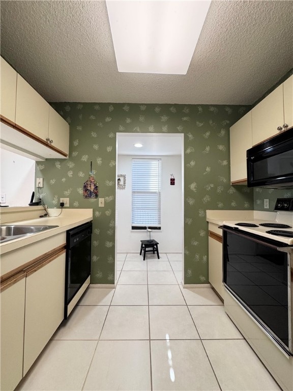
[[[279,390],[182,258],[119,254],[116,289],[87,289],[17,390]],[[121,271],[122,270],[122,271]]]

